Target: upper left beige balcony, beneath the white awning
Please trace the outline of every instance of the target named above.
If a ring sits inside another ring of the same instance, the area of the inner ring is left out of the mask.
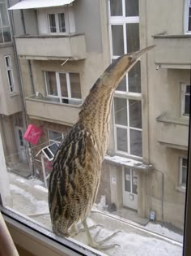
[[[15,37],[15,42],[20,59],[86,59],[86,43],[83,34],[27,35]]]

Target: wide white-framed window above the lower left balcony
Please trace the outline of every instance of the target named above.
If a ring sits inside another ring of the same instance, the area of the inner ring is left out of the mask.
[[[82,103],[78,73],[45,72],[47,96],[55,102],[79,105]]]

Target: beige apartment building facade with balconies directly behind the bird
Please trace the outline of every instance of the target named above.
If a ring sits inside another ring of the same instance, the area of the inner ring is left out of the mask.
[[[155,44],[117,87],[97,202],[183,228],[190,88],[190,2],[10,1],[36,176],[77,121],[91,85],[112,59]],[[48,4],[48,6],[47,6]],[[159,17],[163,11],[163,20]],[[43,176],[44,173],[44,176]]]

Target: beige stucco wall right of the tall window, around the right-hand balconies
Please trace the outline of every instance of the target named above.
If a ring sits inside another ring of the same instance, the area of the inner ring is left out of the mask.
[[[184,4],[183,0],[173,1],[173,4],[171,1],[141,1],[141,46],[152,45],[152,36],[157,33],[182,34]],[[161,14],[163,19],[160,19]],[[143,137],[148,136],[148,145],[143,143],[143,154],[144,149],[147,148],[146,158],[155,167],[155,171],[146,179],[146,215],[149,215],[149,210],[154,210],[157,219],[162,220],[163,217],[163,221],[183,228],[185,193],[176,190],[176,187],[179,183],[179,158],[186,157],[187,152],[170,149],[157,141],[156,118],[163,112],[168,112],[172,118],[180,118],[180,84],[189,83],[189,70],[166,68],[156,70],[154,54],[155,50],[151,51],[147,54],[146,63],[142,63],[142,88],[143,92],[146,92],[143,97],[145,107],[142,115],[147,115],[147,118],[143,119],[143,127],[144,122],[148,124],[147,132],[143,130]],[[147,111],[147,114],[144,111]],[[187,132],[189,132],[188,128]],[[173,134],[171,136],[173,137]]]

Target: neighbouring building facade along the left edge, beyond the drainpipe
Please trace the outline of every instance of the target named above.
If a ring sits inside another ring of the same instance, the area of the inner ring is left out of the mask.
[[[28,145],[23,140],[26,127],[19,66],[6,4],[6,0],[1,1],[0,6],[0,129],[6,165],[15,167],[18,163],[28,164]]]

